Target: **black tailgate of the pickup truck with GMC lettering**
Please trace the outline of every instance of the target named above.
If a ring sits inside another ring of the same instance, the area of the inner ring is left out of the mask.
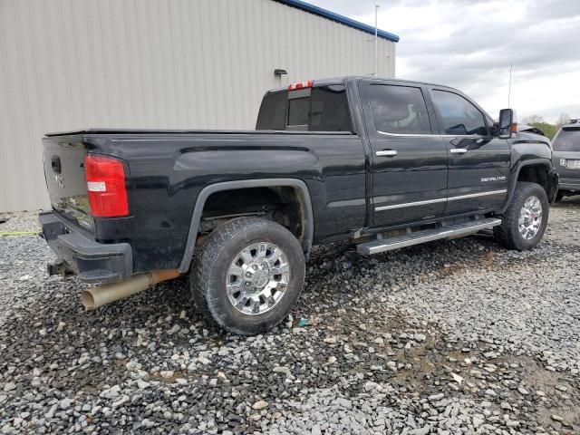
[[[81,136],[43,138],[44,177],[54,211],[94,232],[84,176],[85,148]]]

